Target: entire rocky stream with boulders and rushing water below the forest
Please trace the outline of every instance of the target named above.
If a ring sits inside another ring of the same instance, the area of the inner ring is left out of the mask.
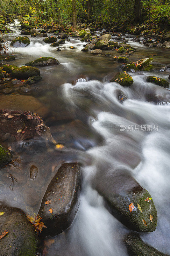
[[[9,25],[1,255],[168,255],[169,39],[80,27]]]

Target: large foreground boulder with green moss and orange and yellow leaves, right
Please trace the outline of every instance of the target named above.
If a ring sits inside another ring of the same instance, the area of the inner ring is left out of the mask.
[[[102,182],[99,181],[96,190],[104,197],[110,213],[122,224],[138,232],[152,232],[156,229],[157,211],[152,196],[128,171],[112,172],[109,179],[105,180],[107,185],[104,184],[104,180]],[[133,209],[129,208],[130,204],[133,205]]]

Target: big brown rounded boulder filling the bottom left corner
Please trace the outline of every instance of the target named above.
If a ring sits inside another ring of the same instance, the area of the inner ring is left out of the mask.
[[[0,203],[0,234],[9,232],[0,240],[1,256],[35,256],[38,238],[25,213],[17,208],[10,208]]]

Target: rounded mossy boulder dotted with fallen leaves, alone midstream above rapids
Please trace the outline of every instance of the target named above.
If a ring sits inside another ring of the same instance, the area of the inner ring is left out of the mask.
[[[131,86],[133,84],[133,79],[128,73],[119,72],[110,80],[110,82],[117,82],[122,86]]]

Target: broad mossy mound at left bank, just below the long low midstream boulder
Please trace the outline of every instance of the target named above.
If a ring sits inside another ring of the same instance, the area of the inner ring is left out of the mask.
[[[40,71],[35,67],[23,66],[12,71],[12,76],[20,79],[27,79],[30,76],[39,76]]]

